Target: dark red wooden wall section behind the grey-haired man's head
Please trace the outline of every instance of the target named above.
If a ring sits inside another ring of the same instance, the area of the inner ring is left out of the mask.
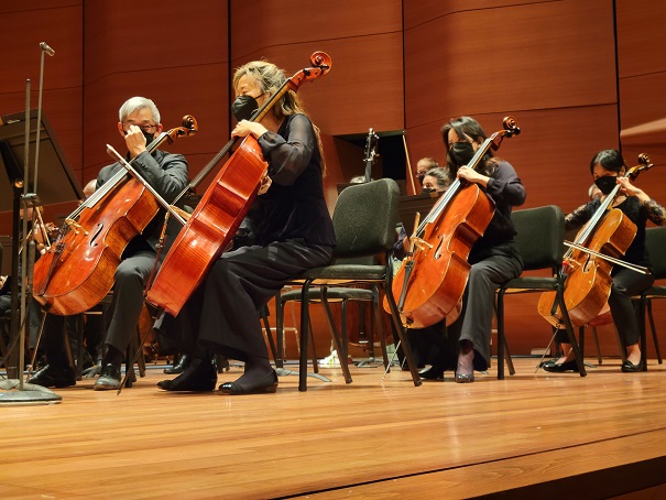
[[[128,12],[151,30],[138,32]],[[166,130],[187,113],[198,120],[199,133],[164,148],[186,154],[194,177],[229,140],[227,2],[88,1],[85,20],[85,177],[110,162],[107,142],[123,149],[118,109],[132,96],[153,99]]]

